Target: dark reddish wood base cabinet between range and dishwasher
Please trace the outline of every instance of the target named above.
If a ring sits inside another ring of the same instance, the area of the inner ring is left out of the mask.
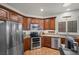
[[[41,42],[42,47],[51,48],[51,37],[43,36]]]

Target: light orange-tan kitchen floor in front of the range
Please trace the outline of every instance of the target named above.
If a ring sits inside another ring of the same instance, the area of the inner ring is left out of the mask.
[[[60,55],[60,52],[55,49],[42,47],[40,49],[27,50],[24,55]]]

